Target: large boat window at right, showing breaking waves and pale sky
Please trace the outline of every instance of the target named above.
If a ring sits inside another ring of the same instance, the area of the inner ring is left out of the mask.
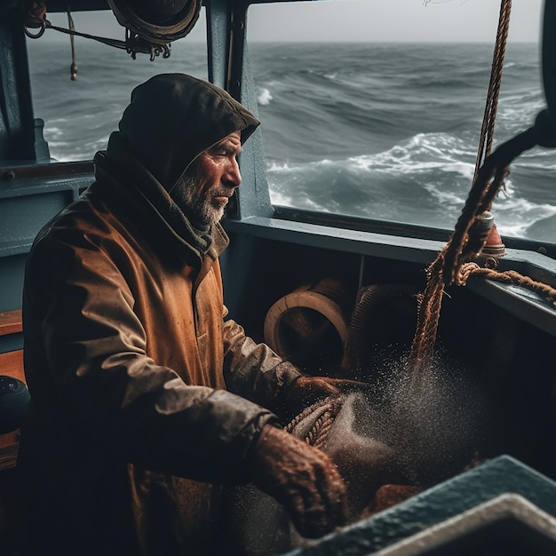
[[[545,106],[541,0],[514,3],[496,144]],[[499,0],[253,4],[250,64],[274,205],[452,230],[473,179]],[[512,163],[504,236],[556,241],[556,153]]]

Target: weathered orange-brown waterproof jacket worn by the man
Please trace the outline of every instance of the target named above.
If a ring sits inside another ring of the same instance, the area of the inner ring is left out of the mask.
[[[24,535],[36,553],[209,553],[211,485],[249,481],[298,370],[226,321],[223,228],[200,252],[121,135],[95,162],[28,259]]]

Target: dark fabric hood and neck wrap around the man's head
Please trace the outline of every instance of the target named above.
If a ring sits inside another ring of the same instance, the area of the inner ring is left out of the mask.
[[[242,142],[259,122],[226,91],[184,74],[155,75],[131,92],[119,131],[95,155],[95,190],[120,218],[131,218],[148,241],[172,247],[192,264],[227,245],[217,224],[195,227],[169,191],[197,155],[241,131]]]

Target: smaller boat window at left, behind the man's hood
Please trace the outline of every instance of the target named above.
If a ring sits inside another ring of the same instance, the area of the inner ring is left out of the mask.
[[[125,30],[113,12],[72,13],[75,30],[89,35],[124,40]],[[47,13],[53,26],[68,28],[68,16]],[[91,160],[106,148],[117,128],[131,90],[159,73],[185,72],[207,78],[206,20],[204,8],[189,35],[171,44],[171,55],[151,61],[138,53],[75,36],[77,79],[71,81],[70,38],[47,29],[39,39],[28,39],[31,90],[36,118],[44,120],[44,139],[59,162]]]

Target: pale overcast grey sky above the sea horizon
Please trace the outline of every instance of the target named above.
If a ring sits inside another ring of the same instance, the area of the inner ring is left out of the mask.
[[[537,42],[544,0],[513,0],[510,41]],[[493,42],[500,0],[330,0],[252,5],[250,40],[456,41]],[[81,16],[81,17],[80,17]],[[66,16],[48,14],[52,24],[67,27]],[[112,12],[98,16],[90,28],[75,13],[75,28],[123,38]],[[203,36],[200,22],[185,40]],[[53,34],[53,32],[50,32]]]

